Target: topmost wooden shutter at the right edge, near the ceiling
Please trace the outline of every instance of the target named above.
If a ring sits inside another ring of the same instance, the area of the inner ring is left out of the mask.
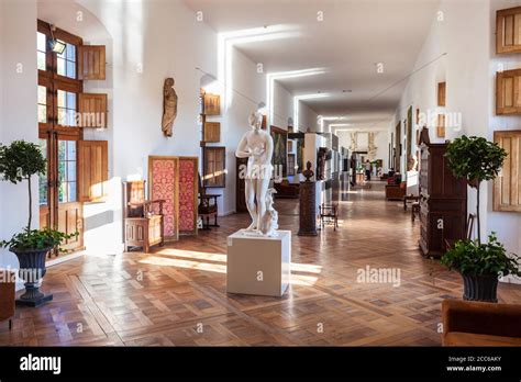
[[[496,12],[496,53],[521,53],[521,7]]]

